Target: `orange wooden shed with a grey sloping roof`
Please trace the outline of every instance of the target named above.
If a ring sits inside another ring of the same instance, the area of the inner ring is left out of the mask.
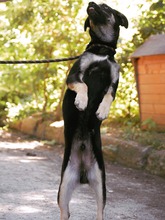
[[[165,130],[165,34],[153,35],[131,56],[139,96],[140,118]]]

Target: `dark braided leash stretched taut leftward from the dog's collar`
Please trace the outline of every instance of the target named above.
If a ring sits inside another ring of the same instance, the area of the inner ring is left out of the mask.
[[[0,60],[0,64],[35,64],[35,63],[58,63],[62,61],[76,60],[80,56],[59,58],[59,59],[45,59],[45,60]]]

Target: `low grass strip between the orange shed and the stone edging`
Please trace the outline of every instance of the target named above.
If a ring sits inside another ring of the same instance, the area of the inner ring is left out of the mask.
[[[125,120],[122,123],[116,120],[105,122],[102,130],[117,138],[138,142],[142,146],[150,145],[154,149],[165,150],[165,131],[158,131],[155,123],[150,119],[142,125],[138,120]]]

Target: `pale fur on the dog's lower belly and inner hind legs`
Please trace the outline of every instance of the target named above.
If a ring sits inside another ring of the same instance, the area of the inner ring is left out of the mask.
[[[79,147],[84,143],[86,148],[80,153]],[[61,220],[69,219],[69,202],[74,189],[80,185],[80,165],[84,164],[87,171],[89,185],[94,190],[97,200],[97,220],[103,220],[103,186],[102,173],[98,163],[94,158],[91,141],[87,138],[81,141],[75,137],[70,159],[63,175],[60,187],[59,207],[61,211]]]

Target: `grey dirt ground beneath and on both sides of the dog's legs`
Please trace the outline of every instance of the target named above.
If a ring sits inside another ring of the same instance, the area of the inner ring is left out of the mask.
[[[0,220],[59,220],[56,202],[63,146],[0,131]],[[106,161],[105,220],[164,220],[165,179]],[[88,186],[77,189],[70,220],[94,220]]]

